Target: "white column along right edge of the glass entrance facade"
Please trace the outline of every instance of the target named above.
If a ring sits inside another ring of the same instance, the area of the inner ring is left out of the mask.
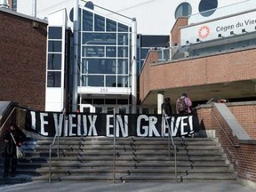
[[[132,114],[137,108],[137,21],[132,19]]]

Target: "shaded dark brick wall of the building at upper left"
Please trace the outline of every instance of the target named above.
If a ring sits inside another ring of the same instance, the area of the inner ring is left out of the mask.
[[[47,25],[0,12],[0,100],[44,110]]]

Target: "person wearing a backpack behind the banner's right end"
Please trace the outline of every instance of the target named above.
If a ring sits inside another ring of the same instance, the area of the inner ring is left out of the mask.
[[[188,98],[187,93],[182,93],[181,97],[176,101],[177,114],[191,113],[192,101]]]

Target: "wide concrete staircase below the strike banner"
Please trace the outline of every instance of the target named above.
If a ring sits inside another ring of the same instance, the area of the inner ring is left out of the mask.
[[[210,138],[175,138],[178,182],[194,180],[236,180],[226,164],[218,143]],[[16,177],[0,178],[1,183],[49,180],[49,146],[52,138],[30,139],[22,146]],[[60,156],[52,148],[52,182],[83,181],[166,181],[175,182],[174,154],[168,156],[166,138],[117,138],[114,173],[113,138],[60,138]],[[3,175],[1,158],[0,172]]]

